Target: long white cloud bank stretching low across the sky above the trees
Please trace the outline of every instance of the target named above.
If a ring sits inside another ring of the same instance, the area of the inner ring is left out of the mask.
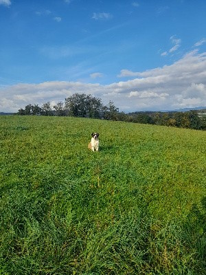
[[[135,79],[110,85],[53,81],[0,87],[0,111],[18,111],[29,103],[59,102],[75,93],[92,94],[105,104],[112,100],[120,111],[206,106],[206,52],[194,50],[172,65],[144,72],[124,69],[120,76]]]

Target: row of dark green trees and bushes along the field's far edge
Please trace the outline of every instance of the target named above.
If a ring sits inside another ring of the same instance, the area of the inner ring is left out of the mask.
[[[41,107],[38,104],[27,104],[25,109],[19,109],[16,115],[74,116],[206,130],[206,117],[198,115],[198,111],[124,113],[119,112],[119,108],[115,107],[112,101],[104,105],[100,98],[86,94],[73,94],[65,98],[64,102],[58,102],[54,106],[50,102],[44,103]]]

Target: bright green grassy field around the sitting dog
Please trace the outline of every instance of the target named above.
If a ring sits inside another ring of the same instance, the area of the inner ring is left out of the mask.
[[[0,274],[206,274],[205,140],[166,126],[0,117]]]

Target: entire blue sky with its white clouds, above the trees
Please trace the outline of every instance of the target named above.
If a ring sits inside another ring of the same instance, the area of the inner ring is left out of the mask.
[[[206,106],[205,0],[0,0],[0,111],[75,93]]]

